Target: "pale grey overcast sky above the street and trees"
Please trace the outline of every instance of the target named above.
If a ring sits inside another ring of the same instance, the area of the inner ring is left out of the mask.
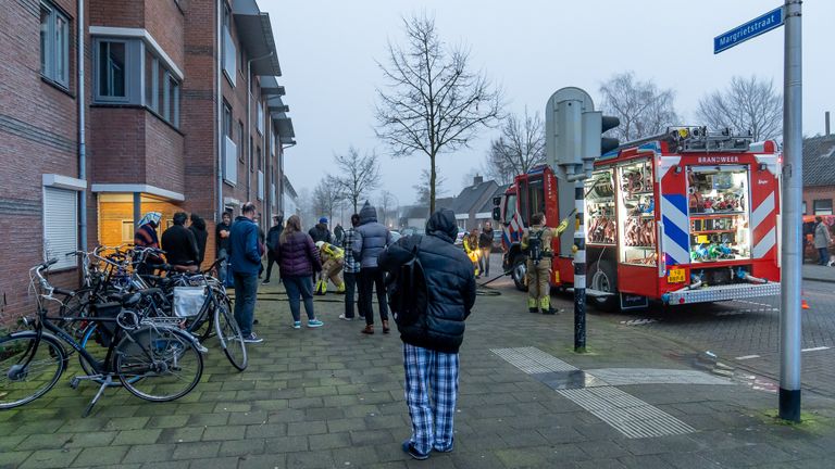
[[[475,67],[501,85],[509,112],[525,106],[541,114],[559,88],[586,89],[599,104],[600,83],[634,71],[676,91],[675,105],[695,121],[699,99],[724,88],[734,75],[758,75],[783,87],[783,29],[719,55],[713,37],[781,4],[780,0],[615,1],[564,0],[259,0],[270,13],[287,88],[285,103],[298,144],[286,151],[285,169],[296,189],[312,189],[331,168],[334,152],[349,145],[376,150],[383,188],[402,205],[415,199],[412,186],[428,159],[392,160],[374,136],[375,88],[386,40],[402,42],[401,16],[433,14],[441,38],[472,49]],[[803,2],[803,132],[824,130],[833,105],[832,48],[835,1]],[[484,162],[496,132],[483,131],[471,149],[443,154],[447,195]],[[376,194],[375,194],[376,197]]]

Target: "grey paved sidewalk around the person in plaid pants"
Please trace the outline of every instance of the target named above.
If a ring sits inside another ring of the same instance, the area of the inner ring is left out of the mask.
[[[571,314],[529,314],[496,283],[501,295],[479,296],[468,322],[450,454],[414,461],[400,449],[409,416],[397,334],[366,337],[337,319],[336,295],[316,302],[323,328],[294,330],[271,284],[257,313],[265,342],[249,347],[247,371],[210,341],[187,397],[150,404],[110,390],[82,419],[94,390],[70,389],[73,363],[50,394],[0,413],[0,467],[832,467],[833,400],[805,394],[811,421],[776,424],[775,394],[726,379],[688,345],[590,315],[590,353],[576,355]]]

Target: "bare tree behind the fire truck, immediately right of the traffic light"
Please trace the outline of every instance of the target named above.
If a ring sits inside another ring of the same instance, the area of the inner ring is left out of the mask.
[[[637,140],[658,135],[668,126],[678,125],[675,112],[675,91],[659,89],[651,79],[639,81],[634,72],[615,74],[600,85],[600,109],[621,121],[611,130],[621,141]]]

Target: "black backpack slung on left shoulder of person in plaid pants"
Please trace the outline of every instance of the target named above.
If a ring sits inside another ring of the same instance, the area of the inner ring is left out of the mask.
[[[414,248],[412,256],[389,277],[388,305],[395,322],[408,327],[418,321],[426,313],[426,277],[419,258],[421,236],[412,236]]]

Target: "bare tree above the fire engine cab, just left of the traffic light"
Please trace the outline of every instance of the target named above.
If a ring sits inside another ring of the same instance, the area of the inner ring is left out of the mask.
[[[501,136],[490,142],[484,172],[501,185],[545,163],[545,126],[539,114],[525,107],[524,116],[510,114],[501,126]]]

